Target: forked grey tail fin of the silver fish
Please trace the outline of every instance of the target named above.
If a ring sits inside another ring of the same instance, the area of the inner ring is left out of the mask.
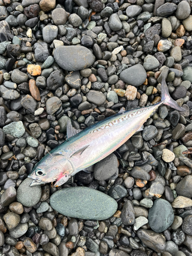
[[[164,77],[161,81],[161,102],[178,111],[185,111],[185,109],[183,109],[182,106],[179,106],[178,103],[170,97]]]

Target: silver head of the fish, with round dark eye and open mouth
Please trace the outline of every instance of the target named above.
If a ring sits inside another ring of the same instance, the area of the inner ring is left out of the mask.
[[[28,176],[33,180],[30,186],[54,182],[63,175],[69,175],[69,161],[65,157],[60,155],[46,157],[34,166]]]

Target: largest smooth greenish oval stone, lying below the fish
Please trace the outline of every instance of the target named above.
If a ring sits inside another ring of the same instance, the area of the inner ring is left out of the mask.
[[[50,198],[51,207],[65,216],[88,220],[105,220],[117,210],[117,202],[89,187],[68,187]]]

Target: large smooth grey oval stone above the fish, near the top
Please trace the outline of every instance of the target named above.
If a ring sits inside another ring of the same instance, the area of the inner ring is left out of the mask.
[[[55,49],[54,59],[62,69],[77,71],[89,68],[95,56],[83,46],[59,46]]]

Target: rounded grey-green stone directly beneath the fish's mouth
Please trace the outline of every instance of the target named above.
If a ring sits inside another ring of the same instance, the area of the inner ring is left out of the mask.
[[[33,180],[25,179],[17,189],[17,201],[25,206],[34,206],[38,203],[41,197],[40,185],[30,187]]]

